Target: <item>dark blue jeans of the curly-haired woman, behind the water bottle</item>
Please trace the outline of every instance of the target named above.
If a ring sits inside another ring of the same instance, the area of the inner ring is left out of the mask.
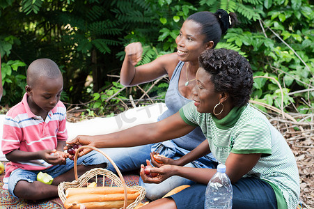
[[[202,209],[205,202],[206,186],[195,184],[183,189],[171,198],[178,209]],[[272,209],[277,208],[274,189],[259,178],[241,178],[233,184],[233,209]]]

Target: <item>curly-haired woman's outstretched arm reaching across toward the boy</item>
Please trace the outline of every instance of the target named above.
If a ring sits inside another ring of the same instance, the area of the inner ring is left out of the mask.
[[[162,121],[136,125],[120,132],[96,136],[77,136],[72,141],[68,141],[67,144],[70,146],[82,144],[96,148],[139,146],[182,137],[194,128],[194,126],[185,123],[180,114],[176,113]],[[68,146],[65,146],[65,149],[68,149]],[[84,148],[79,153],[79,157],[89,151],[91,150]]]

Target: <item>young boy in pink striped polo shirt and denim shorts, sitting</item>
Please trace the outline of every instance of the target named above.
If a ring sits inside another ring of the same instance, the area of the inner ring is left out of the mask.
[[[3,189],[21,199],[39,200],[58,196],[58,184],[74,180],[74,162],[63,152],[68,132],[66,109],[59,101],[63,77],[50,59],[37,59],[27,69],[26,93],[8,111],[3,125],[2,151],[6,164]],[[101,153],[93,151],[77,160],[79,175],[95,167],[106,167]],[[48,173],[52,185],[37,181]]]

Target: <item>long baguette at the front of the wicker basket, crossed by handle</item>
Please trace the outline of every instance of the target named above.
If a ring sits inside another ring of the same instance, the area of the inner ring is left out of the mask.
[[[134,202],[139,196],[139,192],[134,194],[127,194],[127,205]],[[81,203],[88,208],[121,208],[123,207],[125,199],[125,194],[77,194],[70,196],[64,202],[64,207],[69,208],[79,208]],[[93,206],[93,207],[91,207]]]

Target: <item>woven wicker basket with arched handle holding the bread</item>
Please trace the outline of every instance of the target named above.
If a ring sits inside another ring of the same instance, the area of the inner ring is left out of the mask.
[[[87,171],[86,173],[84,173],[82,176],[80,176],[78,178],[77,177],[77,154],[79,153],[79,150],[81,150],[83,148],[91,148],[93,150],[96,150],[96,151],[102,153],[102,155],[104,155],[104,157],[107,157],[109,162],[111,162],[113,167],[116,169],[120,178],[118,178],[118,176],[116,176],[116,174],[114,174],[113,172],[111,172],[107,169],[102,169],[102,168],[91,169],[90,171]],[[124,189],[125,189],[125,200],[124,200],[124,206],[123,206],[124,209],[125,208],[127,208],[127,209],[135,208],[145,198],[146,191],[143,187],[140,187],[140,186],[132,187],[133,189],[139,190],[140,195],[136,198],[136,200],[133,203],[129,204],[129,206],[126,207],[126,205],[127,205],[127,185],[125,185],[125,180],[123,178],[123,175],[121,174],[121,172],[118,169],[118,167],[116,166],[116,164],[113,162],[113,160],[111,160],[111,158],[108,155],[106,155],[104,152],[102,152],[102,150],[95,148],[93,146],[81,146],[80,148],[78,148],[77,152],[74,155],[74,176],[75,176],[75,180],[73,180],[72,182],[63,182],[63,183],[60,183],[58,185],[58,195],[59,195],[59,197],[63,203],[65,202],[65,199],[66,199],[65,198],[65,190],[66,189],[83,187],[84,185],[86,185],[88,183],[88,180],[90,180],[93,177],[95,177],[97,179],[97,176],[103,176],[103,178],[105,178],[105,177],[109,178],[112,180],[112,183],[114,183],[116,186],[124,187]],[[104,186],[104,184],[102,186]]]

